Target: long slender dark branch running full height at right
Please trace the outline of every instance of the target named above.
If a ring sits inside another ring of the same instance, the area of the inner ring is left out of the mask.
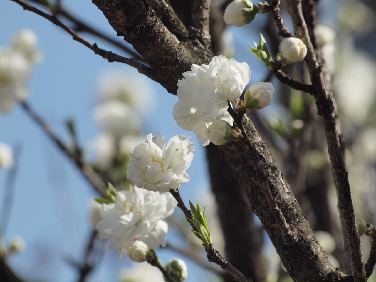
[[[338,120],[333,98],[327,92],[322,68],[319,67],[311,39],[309,38],[308,29],[302,13],[302,5],[300,1],[297,0],[287,0],[287,5],[296,35],[303,40],[308,50],[305,63],[311,77],[312,85],[314,85],[313,94],[316,100],[317,113],[321,116],[324,124],[328,152],[337,188],[338,206],[343,214],[346,237],[349,242],[354,281],[364,282],[367,279],[365,277],[360,238],[355,223],[348,173],[341,153]]]

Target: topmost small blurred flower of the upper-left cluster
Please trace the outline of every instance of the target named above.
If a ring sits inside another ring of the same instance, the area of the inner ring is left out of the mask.
[[[25,56],[27,61],[34,64],[41,59],[38,48],[38,38],[30,29],[21,30],[13,36],[12,48]]]

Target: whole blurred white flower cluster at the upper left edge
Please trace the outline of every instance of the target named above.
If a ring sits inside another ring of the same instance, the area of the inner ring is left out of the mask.
[[[28,96],[27,80],[41,57],[36,46],[36,35],[22,30],[14,35],[10,47],[0,49],[0,112],[9,112]]]

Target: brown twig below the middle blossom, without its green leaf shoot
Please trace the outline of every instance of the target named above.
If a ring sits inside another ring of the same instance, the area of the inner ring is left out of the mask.
[[[191,211],[186,208],[186,206],[183,203],[182,198],[180,197],[179,191],[177,189],[171,189],[170,193],[177,201],[177,206],[183,211],[185,218],[187,219],[188,223],[191,224],[192,230],[198,232],[196,227],[191,223],[189,219],[193,220]],[[234,277],[235,281],[239,282],[253,282],[252,279],[247,278],[244,276],[239,270],[237,270],[235,267],[230,264],[230,262],[226,261],[217,250],[214,250],[213,244],[210,244],[210,246],[204,246],[205,251],[208,256],[208,260],[210,262],[214,262],[215,264],[218,264],[223,270],[227,271],[229,274],[231,274]]]

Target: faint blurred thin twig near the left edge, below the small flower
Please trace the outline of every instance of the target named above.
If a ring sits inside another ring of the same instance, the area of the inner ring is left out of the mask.
[[[1,224],[2,236],[5,236],[6,229],[8,228],[9,217],[11,216],[15,180],[16,180],[16,175],[17,175],[17,170],[18,170],[18,162],[21,156],[21,151],[22,151],[22,147],[20,145],[17,144],[14,146],[14,149],[13,149],[14,165],[8,171],[8,176],[5,182],[5,195],[4,195],[4,200],[3,200],[3,207],[0,213],[1,215],[0,224]]]

